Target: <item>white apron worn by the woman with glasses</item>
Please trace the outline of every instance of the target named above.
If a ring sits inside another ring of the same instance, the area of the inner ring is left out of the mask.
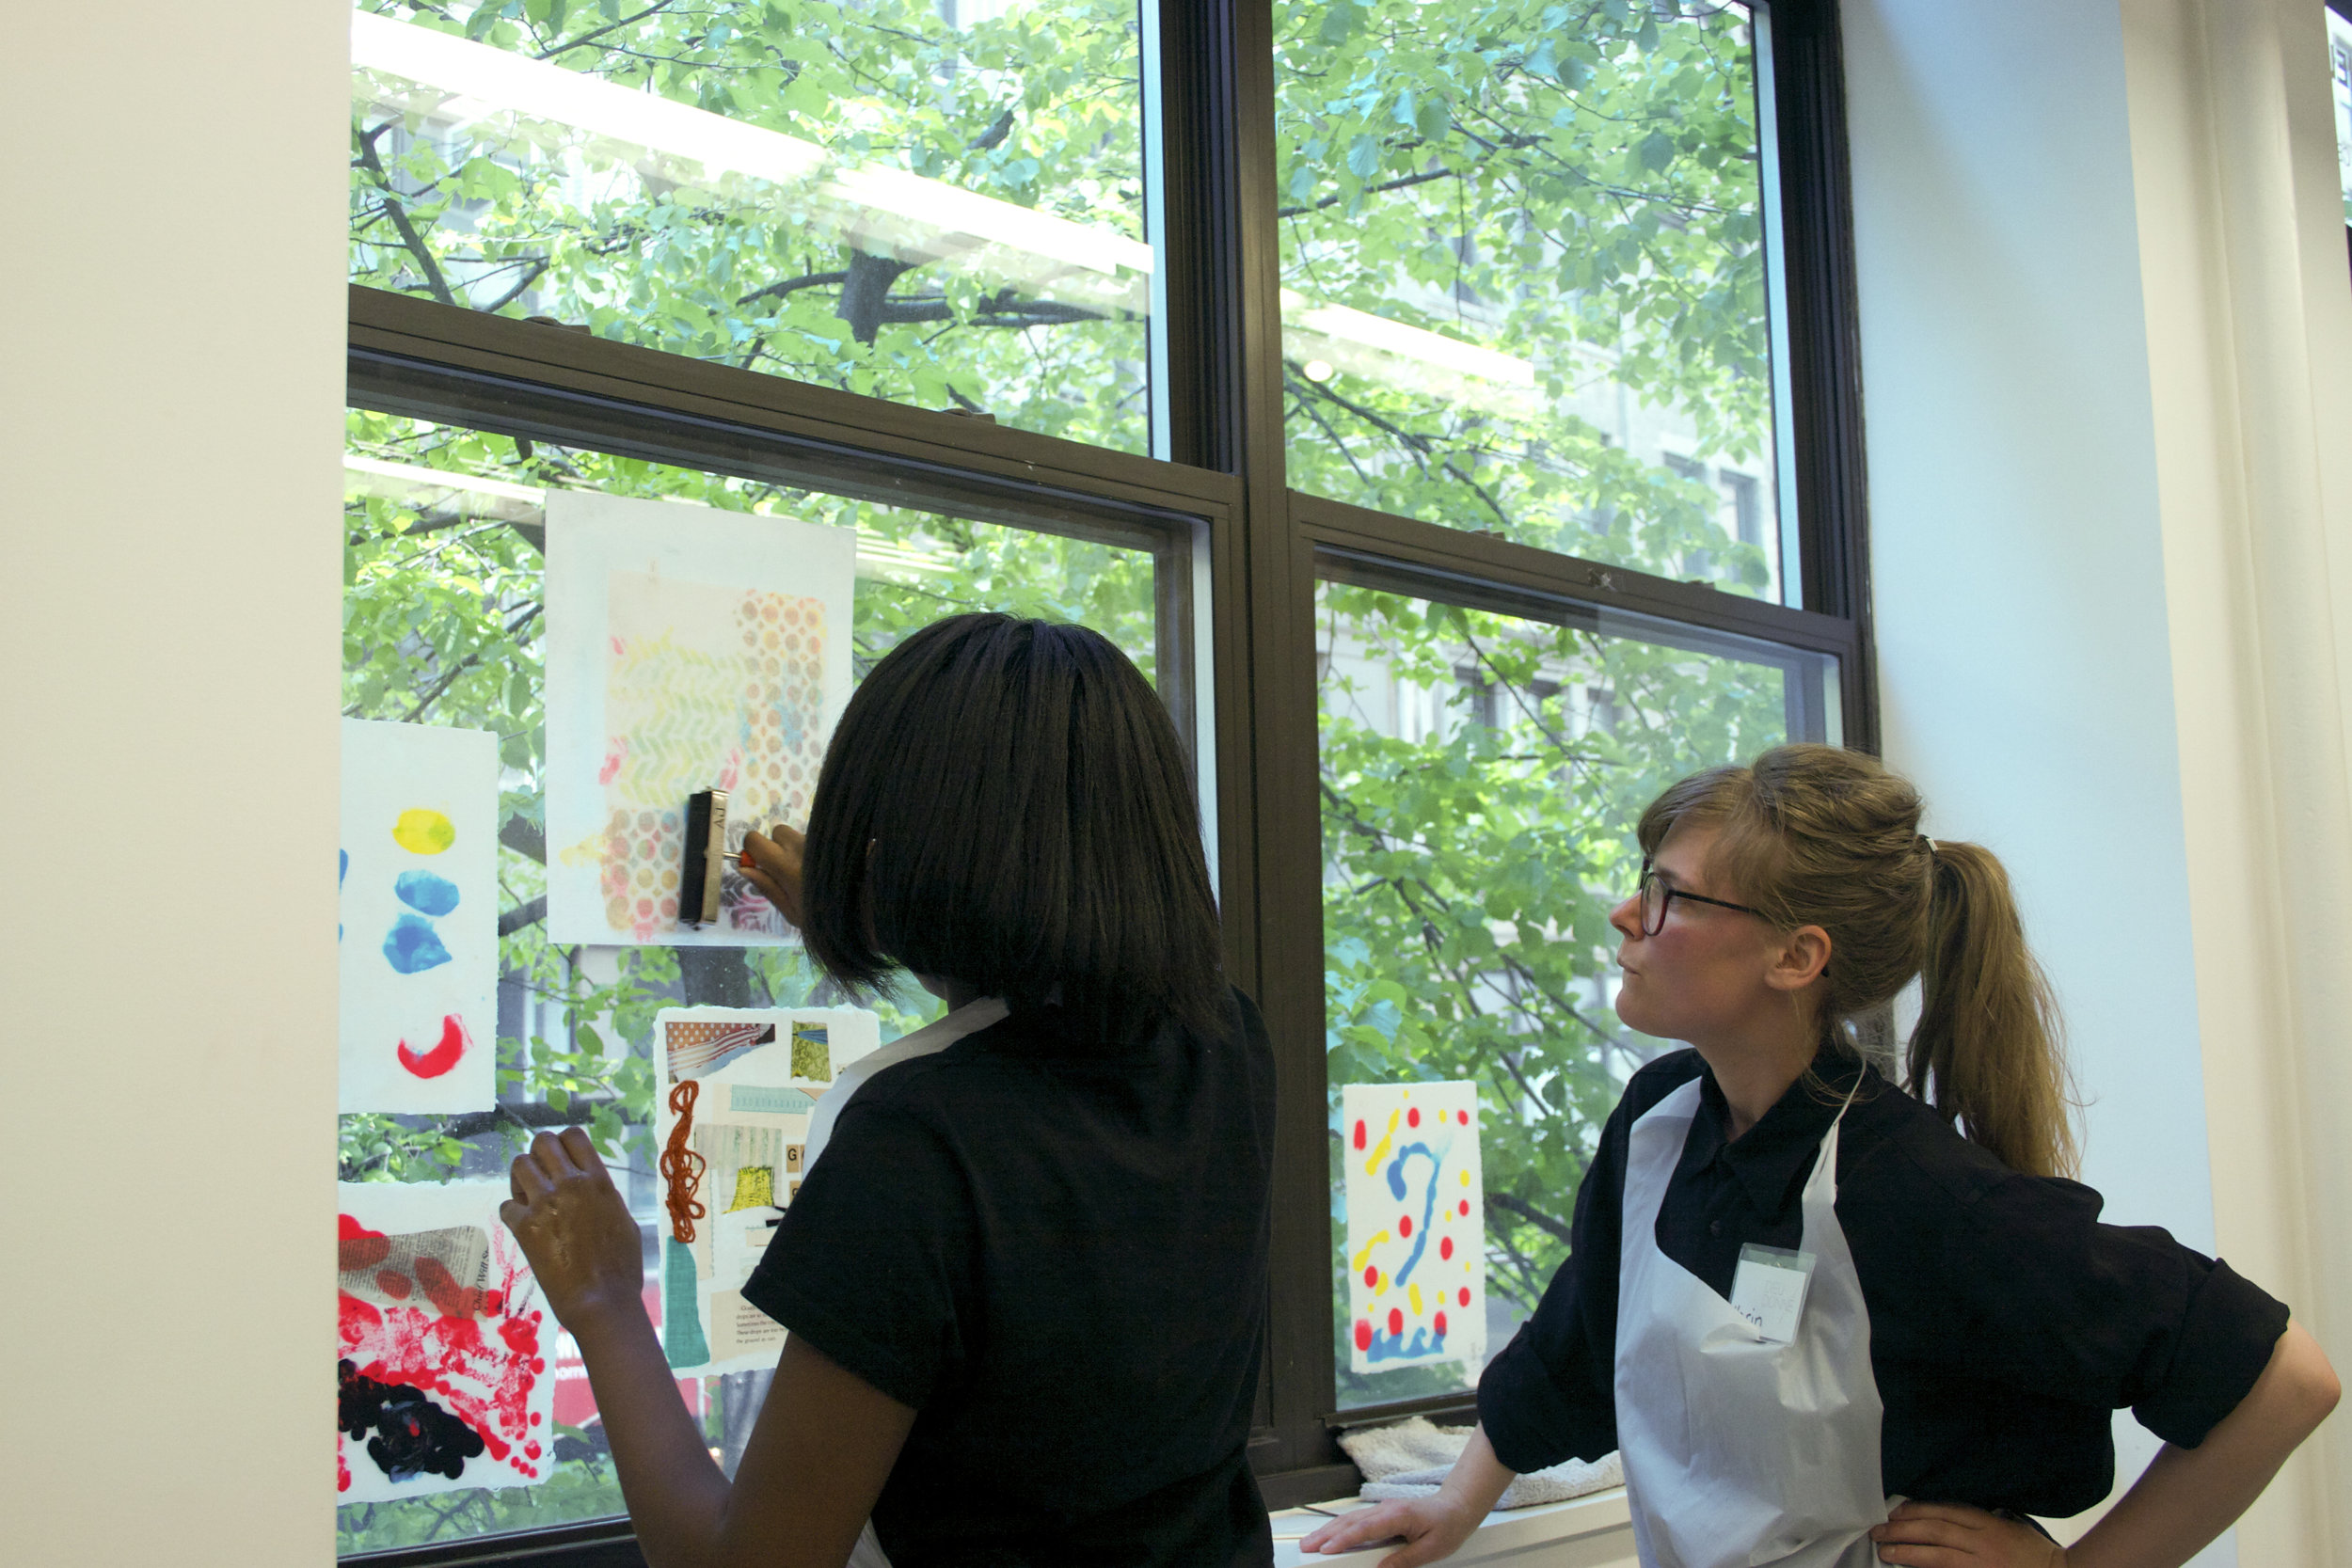
[[[1849,1095],[1851,1105],[1851,1095]],[[1879,1387],[1870,1312],[1837,1225],[1837,1126],[1804,1182],[1813,1281],[1776,1345],[1658,1251],[1658,1204],[1698,1081],[1632,1124],[1618,1272],[1616,1415],[1644,1568],[1875,1568]]]

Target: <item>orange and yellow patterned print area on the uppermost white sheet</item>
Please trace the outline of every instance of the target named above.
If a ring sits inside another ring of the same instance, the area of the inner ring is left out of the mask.
[[[823,762],[823,599],[614,571],[604,682],[604,827],[597,891],[614,933],[677,926],[684,804],[727,790],[727,849],[748,827],[807,823]],[[729,865],[720,929],[790,926]]]

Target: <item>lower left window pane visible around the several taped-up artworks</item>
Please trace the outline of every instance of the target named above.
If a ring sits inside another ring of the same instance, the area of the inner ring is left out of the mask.
[[[649,1121],[654,1013],[675,1004],[828,1006],[800,947],[557,947],[546,938],[543,501],[548,489],[691,501],[856,529],[854,670],[946,614],[1002,609],[1080,621],[1155,675],[1150,550],[891,510],[597,451],[353,411],[343,510],[343,715],[499,736],[499,1110],[346,1114],[341,1180],[503,1178],[539,1126],[595,1131],[644,1227],[647,1302],[661,1319]],[[1176,599],[1178,595],[1167,595]],[[536,903],[534,903],[536,900]],[[882,1037],[936,1018],[915,987],[877,1004]],[[666,1220],[661,1220],[666,1225]],[[548,1481],[336,1509],[339,1552],[621,1514],[595,1401],[555,1335]],[[680,1378],[710,1448],[741,1455],[767,1373]]]

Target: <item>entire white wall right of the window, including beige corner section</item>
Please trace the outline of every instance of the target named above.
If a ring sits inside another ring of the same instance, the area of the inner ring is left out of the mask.
[[[2324,891],[2352,886],[2331,642],[2352,552],[2319,543],[2314,322],[2267,320],[2317,254],[2272,190],[2296,181],[2272,169],[2267,209],[2223,205],[2199,54],[2209,31],[2244,54],[2298,5],[1846,0],[1844,24],[1886,755],[1924,785],[1931,832],[1994,846],[2018,879],[2107,1215],[2218,1246],[2319,1321],[2343,1286],[2312,1267],[2305,1152],[2352,1121],[2352,1100],[2312,1093],[2343,1072],[2312,1067],[2343,1056],[2314,1006],[2326,943],[2352,969]],[[2293,96],[2291,59],[2239,59],[2237,80]],[[2310,92],[2326,113],[2317,47]],[[2284,120],[2241,136],[2241,179],[2291,162],[2307,127]],[[2241,371],[2288,348],[2300,381],[2265,404]],[[2296,386],[2300,454],[2234,440],[2293,423]],[[2265,555],[2251,520],[2281,503],[2296,548]],[[2284,644],[2281,614],[2300,628]],[[2300,670],[2286,698],[2281,661]],[[2293,905],[2300,938],[2281,877],[2314,898]],[[2129,1479],[2152,1443],[2129,1418],[2117,1436]],[[2345,1561],[2326,1462],[2298,1460],[2199,1561]]]

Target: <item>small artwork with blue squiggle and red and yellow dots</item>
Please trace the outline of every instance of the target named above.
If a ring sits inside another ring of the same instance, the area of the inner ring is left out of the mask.
[[[1345,1084],[1348,1366],[1486,1361],[1477,1084]]]

